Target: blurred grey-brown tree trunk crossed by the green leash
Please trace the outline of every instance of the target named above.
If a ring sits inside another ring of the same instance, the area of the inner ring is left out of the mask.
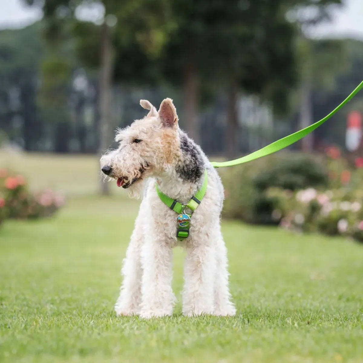
[[[313,107],[311,105],[311,85],[306,82],[301,88],[300,100],[300,125],[299,129],[305,129],[313,123]],[[303,152],[313,151],[313,134],[306,135],[301,140],[301,150]]]

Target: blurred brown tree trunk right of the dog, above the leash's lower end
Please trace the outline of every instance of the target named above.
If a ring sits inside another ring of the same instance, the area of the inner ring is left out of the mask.
[[[230,159],[235,158],[239,154],[239,129],[237,115],[237,86],[232,81],[228,89],[228,110],[227,110],[227,156]]]

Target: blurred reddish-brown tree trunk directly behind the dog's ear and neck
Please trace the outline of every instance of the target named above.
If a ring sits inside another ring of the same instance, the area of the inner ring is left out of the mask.
[[[198,93],[198,76],[195,65],[191,61],[185,70],[184,81],[184,110],[185,110],[185,128],[188,136],[196,143],[199,143],[199,122],[197,114],[197,93]]]

